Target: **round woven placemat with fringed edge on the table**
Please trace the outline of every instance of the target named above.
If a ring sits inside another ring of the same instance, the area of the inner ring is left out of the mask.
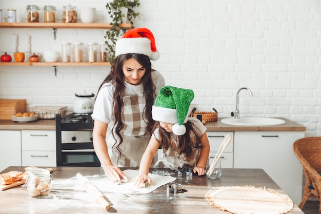
[[[286,194],[250,185],[213,187],[205,198],[213,207],[235,214],[281,214],[293,208]]]

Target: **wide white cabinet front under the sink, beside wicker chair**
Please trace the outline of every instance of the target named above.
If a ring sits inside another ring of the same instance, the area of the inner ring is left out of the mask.
[[[262,168],[291,198],[302,199],[303,170],[293,143],[303,131],[235,131],[234,168]]]

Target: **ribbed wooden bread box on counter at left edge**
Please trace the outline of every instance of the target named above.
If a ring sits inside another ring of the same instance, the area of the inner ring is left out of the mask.
[[[0,99],[0,120],[11,120],[17,112],[26,112],[26,100]]]

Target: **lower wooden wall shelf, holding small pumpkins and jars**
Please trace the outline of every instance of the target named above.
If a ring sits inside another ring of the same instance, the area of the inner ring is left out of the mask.
[[[30,62],[24,62],[24,63],[17,63],[17,62],[10,62],[10,63],[4,63],[0,62],[0,66],[110,66],[110,63],[103,63],[103,62],[97,62],[97,63],[62,63],[62,62],[56,62],[56,63],[30,63]]]

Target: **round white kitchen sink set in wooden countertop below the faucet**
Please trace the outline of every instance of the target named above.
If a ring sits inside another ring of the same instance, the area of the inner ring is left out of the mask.
[[[277,126],[285,124],[284,120],[277,118],[225,118],[222,123],[235,126]]]

